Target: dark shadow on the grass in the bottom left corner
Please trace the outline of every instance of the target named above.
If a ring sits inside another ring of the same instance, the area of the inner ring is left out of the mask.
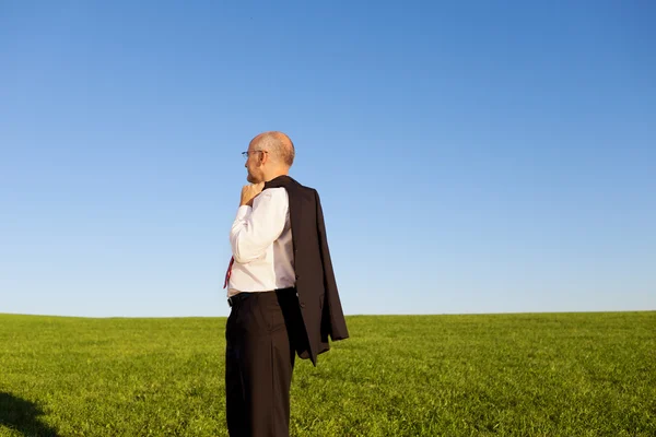
[[[43,414],[34,402],[0,391],[0,428],[7,426],[25,436],[58,437],[55,429],[39,420]]]

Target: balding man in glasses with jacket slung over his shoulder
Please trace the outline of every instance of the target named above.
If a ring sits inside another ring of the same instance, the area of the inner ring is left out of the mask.
[[[294,145],[265,132],[248,145],[250,185],[230,232],[225,391],[231,436],[289,436],[295,355],[349,336],[316,190],[289,176]]]

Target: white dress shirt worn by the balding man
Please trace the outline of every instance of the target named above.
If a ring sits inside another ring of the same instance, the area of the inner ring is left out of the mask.
[[[283,187],[263,190],[253,208],[239,206],[230,232],[235,259],[227,296],[294,286],[294,252],[288,192]]]

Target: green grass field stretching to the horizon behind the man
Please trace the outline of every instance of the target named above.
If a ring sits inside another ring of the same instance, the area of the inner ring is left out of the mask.
[[[347,319],[294,436],[656,436],[656,312]],[[0,436],[226,436],[224,327],[0,315]]]

